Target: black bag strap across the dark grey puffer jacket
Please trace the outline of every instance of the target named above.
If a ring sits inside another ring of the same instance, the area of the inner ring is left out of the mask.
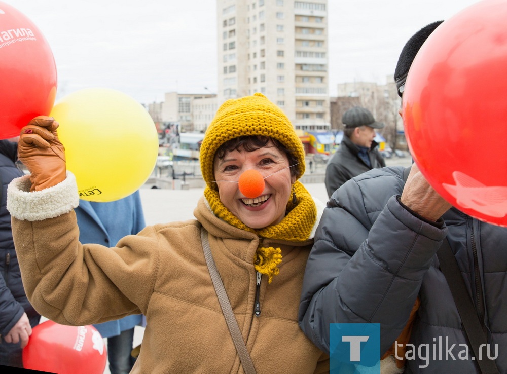
[[[472,351],[474,352],[476,362],[482,374],[498,374],[498,368],[495,361],[490,359],[486,352],[483,352],[482,359],[480,360],[480,346],[487,344],[488,340],[482,329],[481,322],[477,316],[476,309],[472,302],[472,298],[466,289],[465,281],[461,275],[461,270],[458,267],[456,257],[452,252],[449,241],[444,239],[440,249],[437,252],[440,261],[440,270],[444,273],[449,288],[454,298],[454,304],[458,308],[461,322],[465,329],[466,336],[470,342]],[[487,346],[484,346],[487,347]]]

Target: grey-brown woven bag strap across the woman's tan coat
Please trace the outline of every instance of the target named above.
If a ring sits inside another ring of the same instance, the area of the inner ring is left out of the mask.
[[[211,281],[213,282],[216,296],[219,298],[220,307],[224,313],[227,327],[229,327],[229,331],[231,332],[232,340],[234,342],[234,346],[236,347],[236,351],[238,352],[241,365],[243,365],[243,370],[246,374],[256,374],[255,367],[253,367],[253,363],[250,355],[248,354],[248,350],[246,349],[243,336],[239,330],[238,321],[236,321],[236,317],[232,311],[229,297],[227,297],[224,283],[222,282],[222,278],[220,278],[219,271],[216,269],[215,261],[211,255],[211,249],[209,248],[208,242],[208,233],[206,230],[204,230],[203,227],[201,227],[201,241],[202,248],[204,250],[204,257],[206,258],[206,265],[208,266],[209,270],[209,275],[211,276]]]

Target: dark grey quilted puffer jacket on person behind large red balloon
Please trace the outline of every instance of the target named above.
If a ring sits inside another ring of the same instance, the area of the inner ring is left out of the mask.
[[[407,372],[477,372],[475,361],[458,357],[467,340],[436,256],[447,236],[488,330],[490,354],[495,355],[497,344],[496,364],[500,372],[507,372],[507,229],[455,208],[444,214],[440,227],[419,219],[398,200],[404,186],[402,174],[402,167],[375,169],[333,194],[308,258],[299,310],[301,328],[329,352],[330,323],[380,323],[383,353],[404,328],[419,295],[421,306],[410,344],[416,352],[427,344],[429,363],[420,368],[427,362],[416,354],[406,361]],[[454,360],[445,359],[446,338],[448,347],[455,344]],[[436,360],[432,359],[433,345]]]

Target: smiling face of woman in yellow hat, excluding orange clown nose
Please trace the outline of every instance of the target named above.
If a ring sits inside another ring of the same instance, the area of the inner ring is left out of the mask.
[[[254,151],[245,151],[240,146],[226,151],[223,157],[215,155],[213,170],[220,200],[232,214],[252,229],[279,223],[285,216],[292,184],[296,181],[288,166],[286,154],[271,140],[266,146]],[[239,176],[250,169],[259,171],[265,178],[264,191],[253,199],[245,197],[239,191],[237,183]]]

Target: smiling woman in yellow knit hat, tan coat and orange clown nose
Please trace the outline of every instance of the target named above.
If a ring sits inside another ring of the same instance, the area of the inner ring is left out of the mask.
[[[31,174],[8,189],[23,284],[42,315],[87,325],[144,314],[132,372],[329,371],[298,326],[323,204],[297,181],[303,145],[277,106],[261,94],[226,101],[201,145],[196,220],[147,227],[110,249],[78,242],[76,180],[57,126],[41,116],[21,130]]]

